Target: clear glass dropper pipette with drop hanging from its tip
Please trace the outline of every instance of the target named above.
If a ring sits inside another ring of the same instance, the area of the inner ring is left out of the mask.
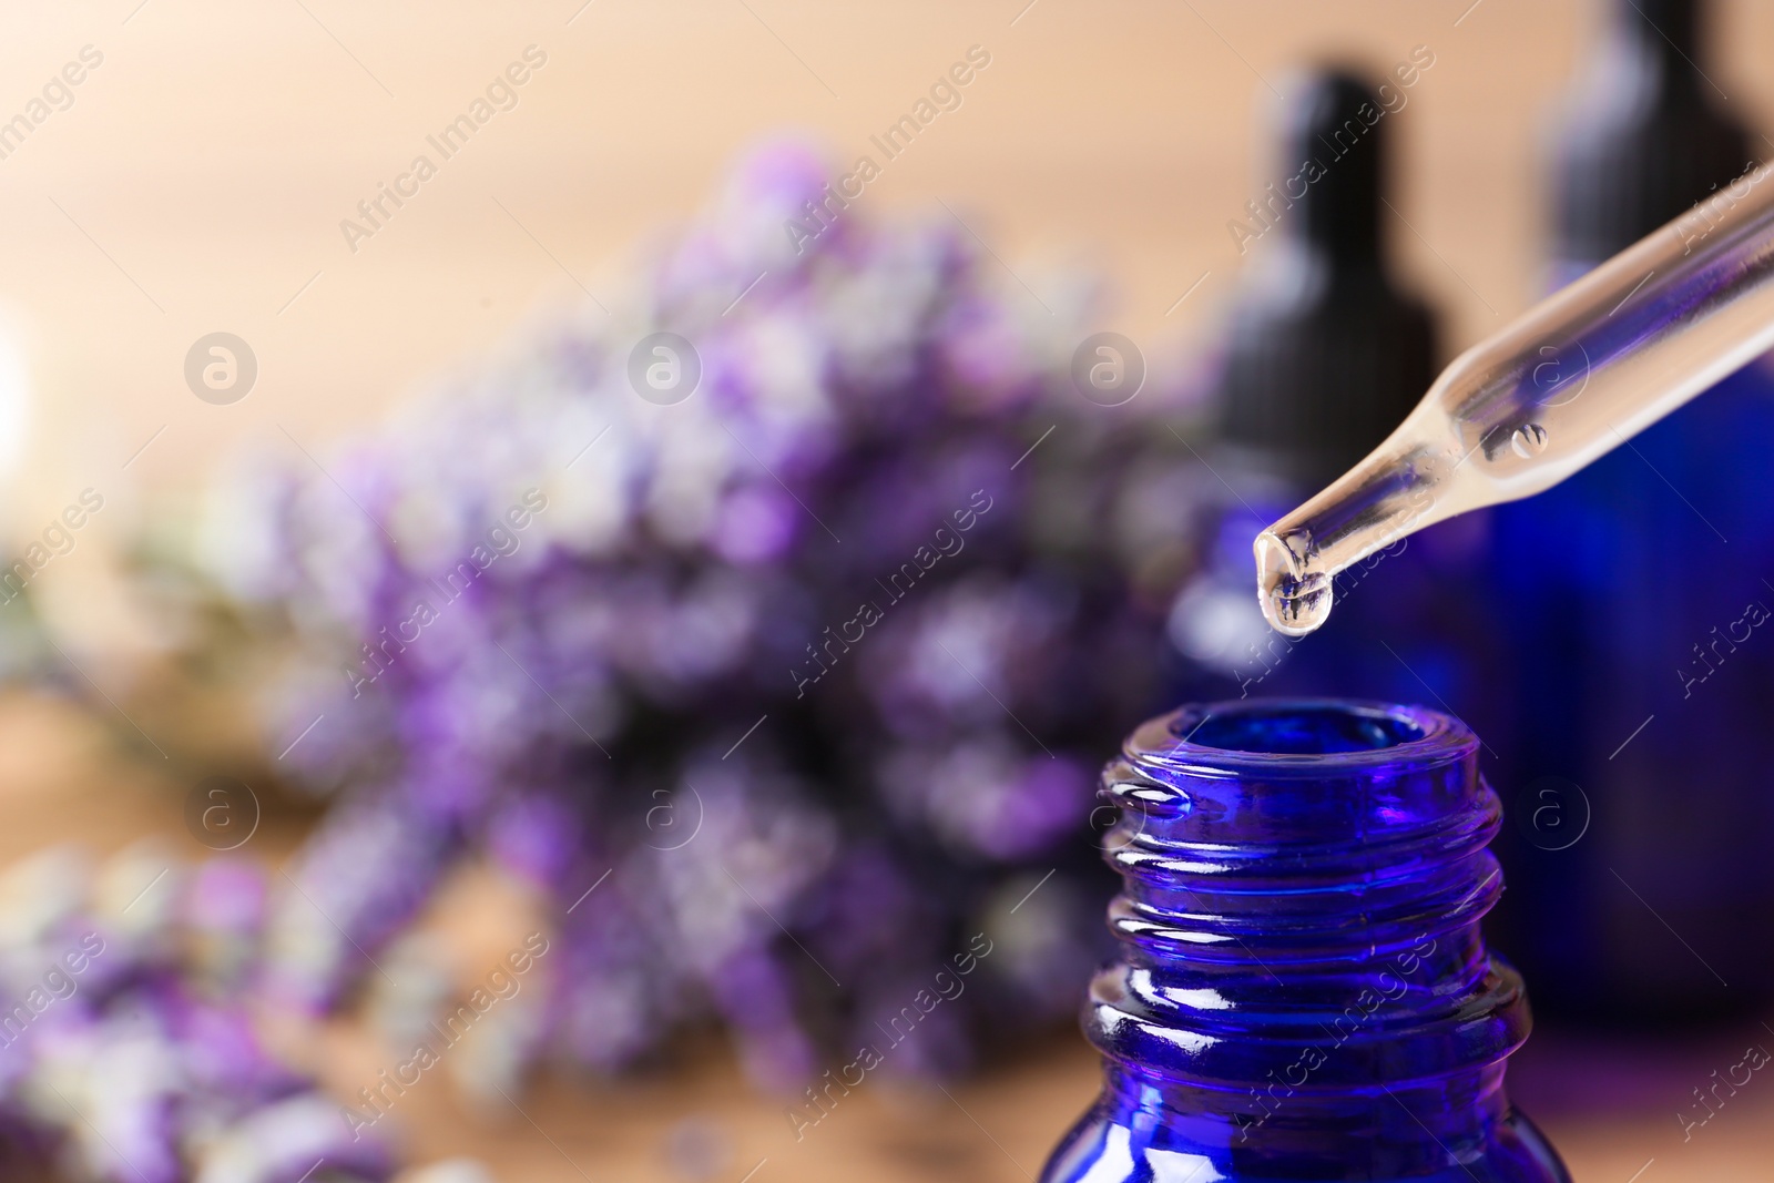
[[[1330,615],[1343,568],[1444,518],[1558,484],[1774,348],[1770,168],[1462,353],[1380,447],[1258,534],[1268,623],[1304,637]]]

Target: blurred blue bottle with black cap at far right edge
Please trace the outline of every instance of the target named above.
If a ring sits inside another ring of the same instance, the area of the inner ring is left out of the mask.
[[[1696,66],[1705,7],[1618,0],[1558,138],[1556,280],[1747,167]],[[1549,360],[1581,388],[1581,360]],[[1499,844],[1519,889],[1499,944],[1547,1013],[1673,1025],[1774,993],[1770,442],[1758,362],[1492,514],[1513,665],[1495,747],[1519,819],[1542,821]]]

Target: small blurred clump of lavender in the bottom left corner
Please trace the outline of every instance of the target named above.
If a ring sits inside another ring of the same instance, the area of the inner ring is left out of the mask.
[[[380,1183],[389,1149],[280,1066],[243,1002],[264,885],[153,846],[92,871],[50,850],[0,873],[0,1146],[112,1183]],[[11,1160],[11,1158],[9,1158]]]

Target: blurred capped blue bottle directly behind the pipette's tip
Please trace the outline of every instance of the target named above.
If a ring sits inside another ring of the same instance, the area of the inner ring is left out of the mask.
[[[1260,241],[1229,312],[1213,381],[1217,438],[1201,566],[1169,637],[1183,656],[1169,702],[1251,693],[1433,695],[1481,713],[1483,663],[1464,639],[1476,607],[1453,589],[1481,575],[1483,534],[1448,521],[1338,576],[1338,612],[1304,639],[1276,633],[1252,594],[1251,539],[1378,445],[1435,378],[1435,316],[1385,262],[1400,90],[1311,74],[1290,98],[1276,183],[1249,225]],[[1387,110],[1387,108],[1393,110]],[[1240,241],[1247,236],[1240,232]],[[1368,575],[1384,568],[1384,575]]]

